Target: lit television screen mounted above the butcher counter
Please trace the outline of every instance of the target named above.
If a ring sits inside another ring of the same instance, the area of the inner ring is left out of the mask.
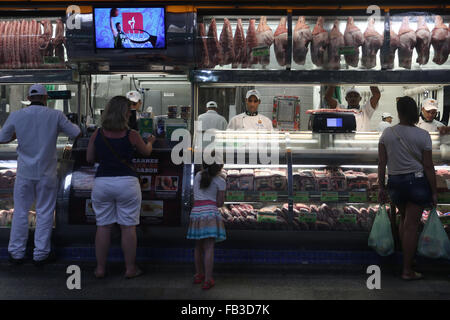
[[[164,8],[94,8],[97,49],[164,49]]]

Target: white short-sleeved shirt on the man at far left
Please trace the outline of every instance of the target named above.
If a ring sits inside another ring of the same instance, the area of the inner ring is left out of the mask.
[[[30,105],[12,112],[0,131],[0,141],[9,141],[16,133],[17,176],[37,180],[56,177],[56,140],[60,132],[71,138],[80,128],[70,122],[59,110]]]

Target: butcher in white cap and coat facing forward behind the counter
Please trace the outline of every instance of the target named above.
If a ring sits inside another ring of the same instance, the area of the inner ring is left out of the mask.
[[[234,116],[228,124],[228,130],[273,130],[272,121],[258,113],[261,94],[257,90],[249,90],[245,95],[246,109],[244,113]]]

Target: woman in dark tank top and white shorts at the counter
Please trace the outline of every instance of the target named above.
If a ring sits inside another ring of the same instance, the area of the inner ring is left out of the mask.
[[[142,274],[136,266],[136,225],[139,224],[142,193],[131,159],[136,148],[143,155],[152,152],[154,137],[147,143],[128,128],[130,101],[123,96],[112,98],[102,114],[102,127],[89,140],[87,161],[99,162],[92,188],[92,208],[97,220],[95,276],[103,278],[111,241],[111,228],[120,225],[122,250],[125,257],[125,277]]]

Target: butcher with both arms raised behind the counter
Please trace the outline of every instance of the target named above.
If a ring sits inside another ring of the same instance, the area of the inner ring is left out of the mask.
[[[325,100],[331,109],[356,109],[358,113],[355,114],[356,119],[356,131],[371,131],[370,129],[370,119],[372,118],[375,109],[378,107],[378,101],[380,101],[381,93],[378,87],[371,86],[370,91],[372,92],[372,97],[367,101],[362,107],[359,105],[361,102],[361,94],[356,88],[351,88],[345,93],[345,100],[347,101],[347,106],[341,104],[333,98],[333,92],[335,86],[329,86],[325,93]]]

